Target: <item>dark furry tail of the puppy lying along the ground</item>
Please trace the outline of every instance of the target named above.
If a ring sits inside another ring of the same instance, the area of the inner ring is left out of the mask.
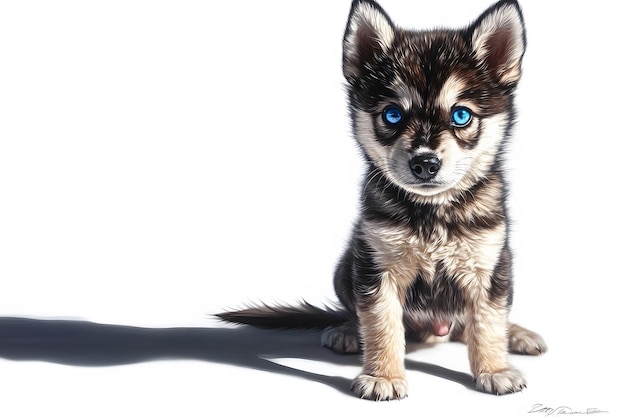
[[[336,306],[316,307],[306,301],[296,306],[252,305],[242,310],[216,314],[221,320],[273,329],[315,329],[338,326],[350,319],[349,313]]]

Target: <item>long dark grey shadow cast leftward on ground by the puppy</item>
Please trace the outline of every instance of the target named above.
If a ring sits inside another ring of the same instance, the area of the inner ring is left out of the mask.
[[[300,358],[360,366],[357,355],[335,354],[320,345],[314,330],[278,331],[253,327],[143,328],[73,320],[0,317],[0,357],[73,366],[114,366],[162,359],[195,359],[298,376],[350,394],[351,381],[284,366],[274,358]],[[407,360],[407,369],[473,389],[470,375]]]

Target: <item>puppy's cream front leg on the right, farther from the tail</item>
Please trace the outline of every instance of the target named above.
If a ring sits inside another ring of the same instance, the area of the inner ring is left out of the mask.
[[[483,297],[480,297],[483,298]],[[476,388],[508,394],[526,387],[524,377],[508,365],[506,300],[474,300],[466,323],[467,347]]]

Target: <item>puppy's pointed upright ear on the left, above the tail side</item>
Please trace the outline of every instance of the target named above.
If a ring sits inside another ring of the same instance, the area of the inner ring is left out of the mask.
[[[343,38],[344,76],[359,77],[367,63],[391,48],[394,37],[393,23],[376,2],[354,0]]]

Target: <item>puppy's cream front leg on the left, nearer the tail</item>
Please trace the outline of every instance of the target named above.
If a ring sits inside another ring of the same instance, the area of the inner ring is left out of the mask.
[[[407,395],[400,293],[391,277],[383,274],[377,291],[362,295],[357,303],[364,363],[352,391],[361,398],[380,401]]]

